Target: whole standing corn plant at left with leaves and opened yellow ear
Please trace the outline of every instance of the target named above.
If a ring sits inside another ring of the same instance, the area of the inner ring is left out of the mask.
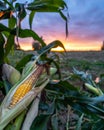
[[[48,66],[50,66],[52,59],[46,60],[46,52],[49,52],[52,47],[58,45],[63,47],[62,43],[58,40],[52,42],[48,48],[45,47],[46,43],[32,30],[32,21],[35,13],[59,13],[66,22],[67,35],[67,17],[62,12],[65,8],[67,8],[67,5],[63,0],[58,0],[57,2],[51,0],[34,0],[33,2],[24,4],[18,3],[17,1],[0,1],[0,20],[8,20],[8,26],[0,23],[0,70],[2,74],[1,84],[4,86],[2,92],[4,92],[5,95],[0,106],[0,130],[27,128],[25,125],[22,128],[23,120],[26,115],[26,107],[29,109],[29,105],[31,106],[33,99],[38,95],[41,95],[41,91],[50,81],[50,75],[53,74],[51,70],[53,71],[54,68],[52,69],[51,67],[47,67],[47,62],[49,64]],[[27,16],[27,12],[29,12],[30,29],[22,29],[21,22]],[[26,37],[32,37],[34,40],[39,41],[43,48],[39,50],[35,61],[26,68],[27,71],[23,68],[25,67],[25,64],[30,61],[33,55],[27,55],[24,57],[24,59],[16,65],[16,70],[12,66],[6,64],[9,63],[8,54],[13,50],[13,48],[15,48],[15,42],[17,48],[20,49],[19,38]],[[56,63],[54,62],[54,64]],[[20,72],[22,73],[22,71],[24,72],[21,75]],[[13,73],[15,75],[18,74],[18,78],[16,78],[18,81],[14,80]],[[40,82],[38,82],[39,79]],[[13,121],[13,124],[11,124],[11,121]]]

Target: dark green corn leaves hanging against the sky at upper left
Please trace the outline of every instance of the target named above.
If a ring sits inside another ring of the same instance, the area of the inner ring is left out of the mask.
[[[57,12],[60,14],[60,16],[66,21],[67,23],[67,17],[62,13],[62,11],[67,8],[66,3],[63,0],[58,0],[57,2],[51,1],[51,0],[42,0],[37,1],[34,0],[30,3],[18,3],[17,1],[10,1],[7,0],[0,2],[0,20],[7,19],[8,20],[8,27],[0,23],[0,43],[2,44],[1,50],[3,50],[3,44],[6,42],[5,45],[5,52],[2,52],[2,58],[3,55],[5,55],[5,58],[7,58],[7,55],[9,54],[10,50],[15,45],[15,42],[17,42],[17,46],[19,47],[19,40],[18,38],[26,38],[26,37],[32,37],[34,40],[37,40],[41,43],[42,47],[45,46],[45,42],[41,37],[38,36],[34,31],[32,31],[32,21],[34,18],[34,14],[37,12]],[[29,13],[29,25],[30,29],[22,29],[21,28],[21,22],[25,19],[25,17]],[[67,30],[67,28],[66,28]],[[66,31],[66,35],[67,35]],[[15,36],[17,41],[15,41]],[[5,37],[5,39],[3,38]],[[5,53],[5,54],[3,54]]]

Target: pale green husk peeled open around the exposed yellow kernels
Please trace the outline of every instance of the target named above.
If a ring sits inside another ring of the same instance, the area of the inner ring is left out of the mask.
[[[34,83],[32,89],[12,108],[9,108],[11,99],[16,91],[16,89],[31,75],[36,68],[36,62],[29,68],[28,73],[26,73],[9,91],[9,93],[4,98],[0,106],[0,130],[3,130],[5,126],[17,117],[27,106],[32,102],[32,100],[43,90],[43,88],[49,82],[48,76],[45,77],[44,82],[36,87]],[[35,88],[36,87],[36,88]]]

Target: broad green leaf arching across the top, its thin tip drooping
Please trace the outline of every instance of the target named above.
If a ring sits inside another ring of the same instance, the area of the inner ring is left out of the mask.
[[[67,5],[63,0],[51,1],[51,0],[42,0],[42,1],[34,1],[29,3],[27,6],[28,10],[35,12],[57,12],[66,22],[66,36],[68,36],[68,18],[62,13],[63,9],[67,9]],[[69,15],[67,15],[69,16]],[[32,18],[32,16],[31,16]],[[30,22],[29,22],[30,23]],[[31,25],[31,24],[30,24]]]

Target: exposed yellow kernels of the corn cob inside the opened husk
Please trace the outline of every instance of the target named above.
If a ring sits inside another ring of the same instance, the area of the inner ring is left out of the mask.
[[[38,66],[37,69],[17,88],[15,91],[9,108],[18,103],[31,89],[44,70],[44,66]]]

